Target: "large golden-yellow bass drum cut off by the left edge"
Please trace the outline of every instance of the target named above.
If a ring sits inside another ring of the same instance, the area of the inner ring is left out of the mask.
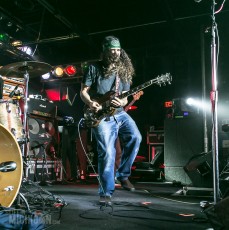
[[[13,161],[16,169],[3,172],[1,165]],[[22,180],[23,161],[20,147],[13,136],[0,124],[0,206],[10,207],[19,192]]]

